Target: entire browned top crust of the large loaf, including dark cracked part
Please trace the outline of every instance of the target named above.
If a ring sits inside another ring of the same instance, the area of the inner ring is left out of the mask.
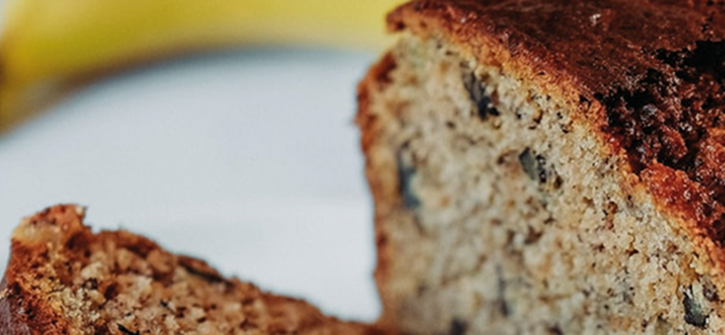
[[[419,0],[388,23],[565,91],[663,208],[725,242],[725,1]]]

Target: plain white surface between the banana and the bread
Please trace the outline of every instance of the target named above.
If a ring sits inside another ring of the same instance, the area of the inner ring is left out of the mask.
[[[374,320],[372,206],[353,125],[370,62],[248,51],[82,91],[0,138],[0,259],[22,216],[73,202],[95,227]]]

